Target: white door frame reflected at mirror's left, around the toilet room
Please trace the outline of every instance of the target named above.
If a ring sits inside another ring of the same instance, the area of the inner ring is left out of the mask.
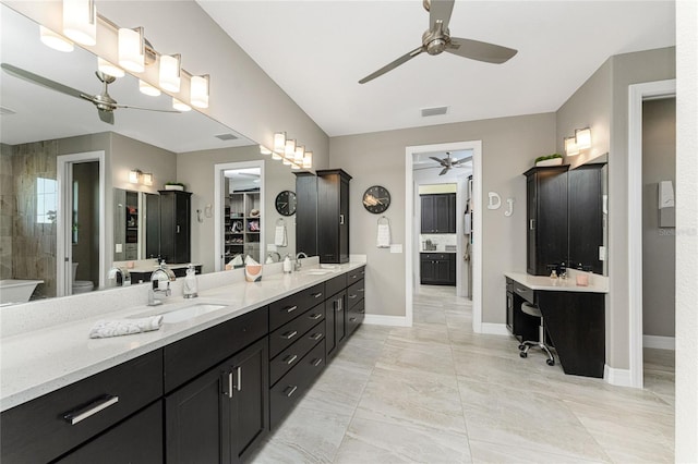
[[[56,180],[58,182],[58,215],[56,218],[56,296],[72,294],[72,196],[73,164],[81,162],[99,163],[99,282],[104,289],[107,276],[107,174],[105,151],[84,151],[59,155],[56,158]]]

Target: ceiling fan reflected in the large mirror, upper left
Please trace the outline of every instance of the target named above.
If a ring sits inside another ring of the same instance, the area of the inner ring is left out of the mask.
[[[71,97],[81,98],[83,100],[87,100],[97,107],[97,114],[99,119],[108,124],[113,124],[113,112],[119,108],[124,109],[133,109],[133,110],[145,110],[145,111],[158,111],[164,113],[179,113],[177,110],[159,110],[155,108],[143,108],[143,107],[134,107],[130,105],[121,105],[117,102],[108,91],[108,86],[117,78],[110,76],[109,74],[101,73],[99,71],[95,72],[97,78],[101,82],[103,88],[101,93],[97,95],[89,95],[87,93],[77,90],[75,88],[69,87],[67,85],[60,84],[56,81],[51,81],[50,78],[40,76],[38,74],[34,74],[31,71],[23,70],[22,68],[14,66],[9,63],[0,64],[2,71],[5,73],[13,75],[15,77],[20,77],[24,81],[31,82],[32,84],[40,85],[46,88],[50,88],[51,90],[60,91],[61,94],[70,95]]]

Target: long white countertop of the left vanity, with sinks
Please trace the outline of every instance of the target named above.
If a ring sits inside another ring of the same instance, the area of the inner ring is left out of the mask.
[[[3,337],[0,340],[0,411],[58,390],[364,265],[365,262],[335,265],[330,272],[324,274],[308,273],[309,270],[317,270],[318,266],[306,266],[291,274],[264,274],[261,282],[237,281],[203,290],[198,292],[197,298],[192,300],[184,300],[180,290],[176,292],[180,296],[165,297],[161,306],[130,306],[101,314],[95,314],[98,313],[95,309],[89,316],[82,316],[76,320],[68,320],[69,316],[61,315],[67,319],[62,323]],[[213,279],[219,280],[220,276],[232,272],[242,272],[242,269],[216,272]],[[115,292],[113,295],[118,296],[119,293]],[[88,294],[76,296],[80,296],[74,300],[76,306],[91,301],[87,300],[91,296]],[[145,300],[137,301],[145,303]],[[145,317],[202,303],[222,304],[226,308],[178,323],[164,323],[159,330],[152,332],[109,339],[88,337],[89,329],[97,320]],[[32,309],[31,305],[24,307],[27,310]],[[47,310],[46,304],[37,305],[37,308]]]

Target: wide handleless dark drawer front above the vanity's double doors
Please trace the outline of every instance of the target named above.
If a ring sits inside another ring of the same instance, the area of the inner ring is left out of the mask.
[[[165,392],[193,379],[267,331],[265,306],[165,346]]]

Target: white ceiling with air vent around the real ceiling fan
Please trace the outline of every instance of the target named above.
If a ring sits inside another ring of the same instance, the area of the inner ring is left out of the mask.
[[[360,85],[421,45],[421,0],[197,2],[329,136],[556,111],[609,57],[675,44],[670,0],[456,0],[452,36],[518,53],[422,53]]]

